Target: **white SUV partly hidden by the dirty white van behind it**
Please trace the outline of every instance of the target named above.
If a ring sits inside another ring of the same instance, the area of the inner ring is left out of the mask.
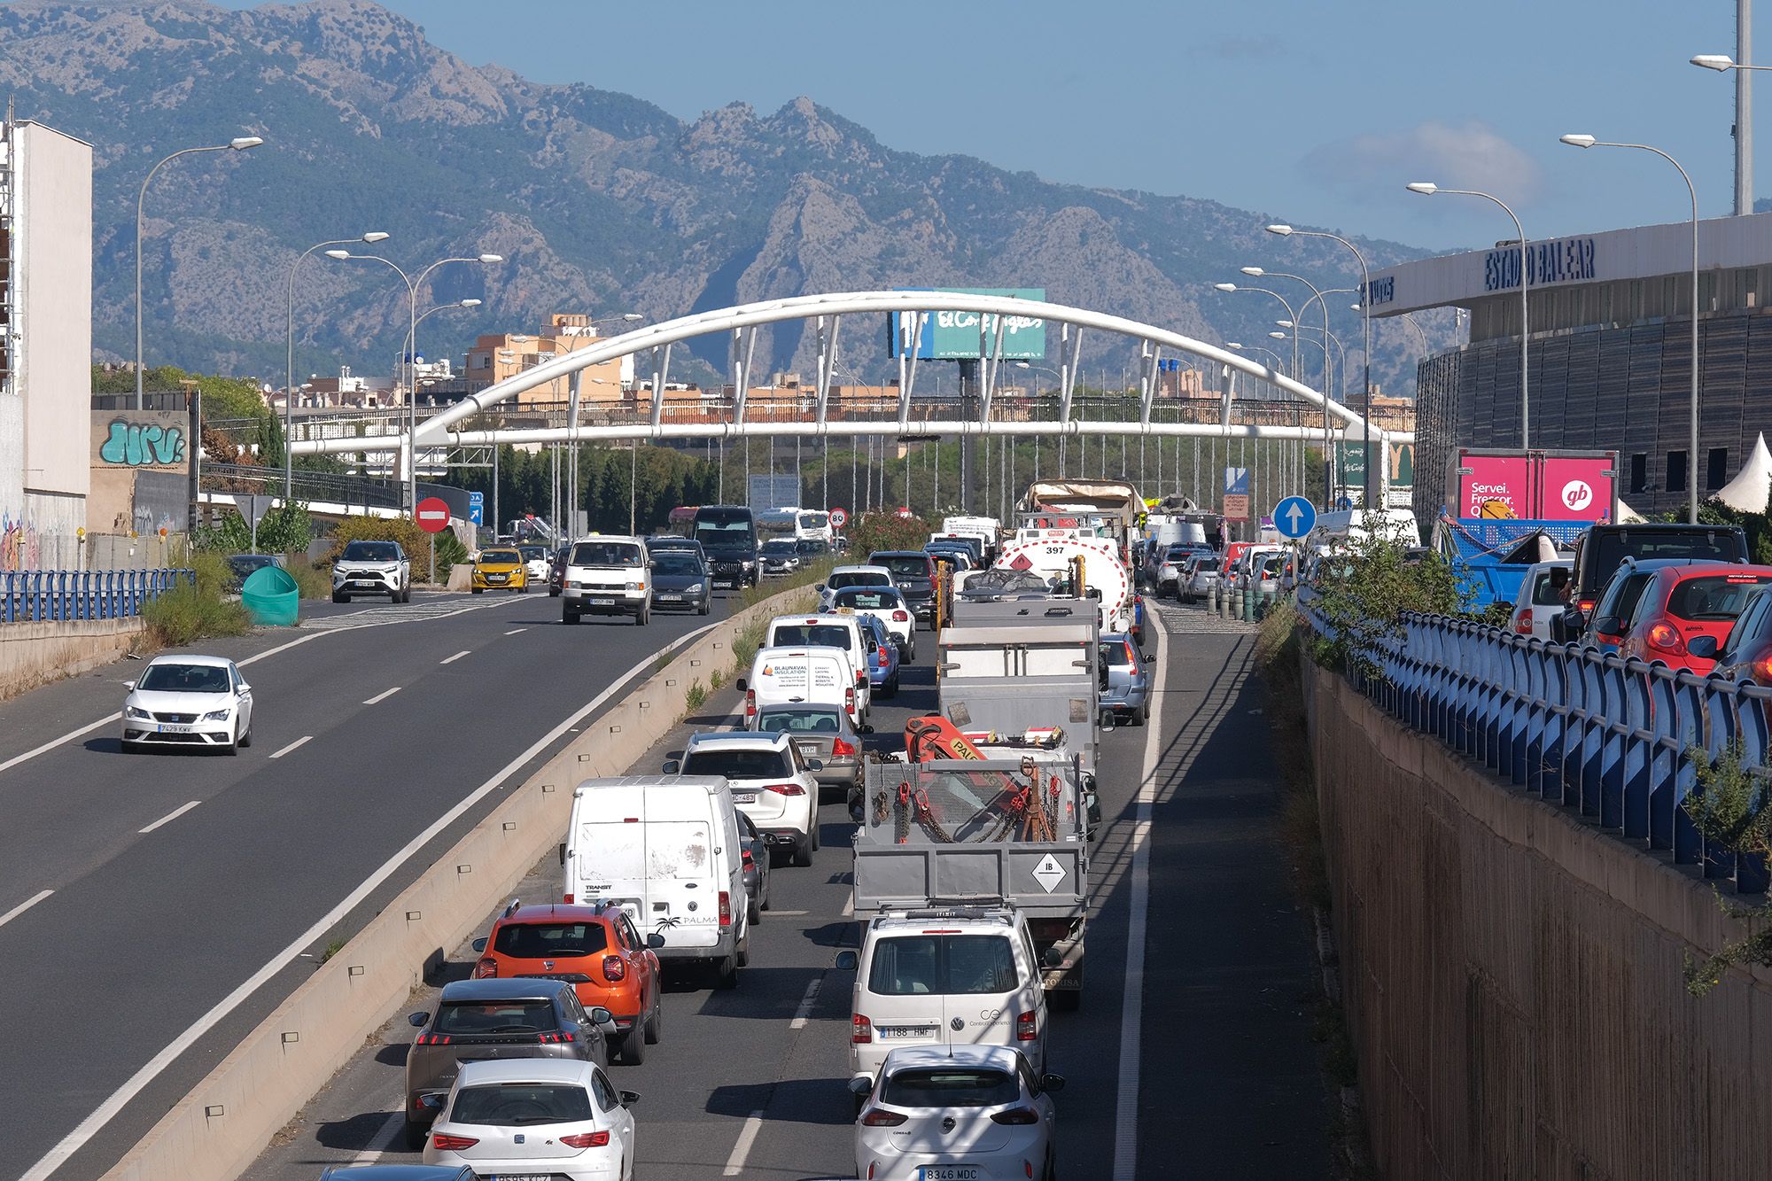
[[[799,754],[789,734],[695,734],[680,761],[664,773],[723,775],[732,803],[751,817],[771,849],[785,851],[796,865],[812,865],[819,849],[817,759]]]

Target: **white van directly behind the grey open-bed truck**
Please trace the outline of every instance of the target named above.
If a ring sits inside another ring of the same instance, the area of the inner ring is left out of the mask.
[[[1045,989],[1028,924],[1014,906],[890,910],[872,919],[849,1016],[852,1078],[874,1080],[898,1046],[992,1044],[1045,1071]]]

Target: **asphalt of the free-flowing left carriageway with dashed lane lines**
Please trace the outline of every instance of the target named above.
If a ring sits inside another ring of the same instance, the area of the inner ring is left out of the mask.
[[[120,754],[106,718],[140,661],[0,706],[0,997],[37,1034],[0,1048],[5,1176],[99,1176],[587,706],[723,608],[569,631],[546,594],[317,605],[200,645],[252,683],[239,757]],[[46,1053],[50,1030],[82,1036]]]

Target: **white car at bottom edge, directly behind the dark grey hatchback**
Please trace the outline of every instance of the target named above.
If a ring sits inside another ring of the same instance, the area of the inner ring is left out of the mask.
[[[631,1181],[633,1091],[595,1062],[464,1060],[425,1138],[427,1165],[468,1165],[477,1177]]]

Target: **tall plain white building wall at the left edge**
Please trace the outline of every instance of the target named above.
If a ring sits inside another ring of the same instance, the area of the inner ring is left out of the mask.
[[[85,525],[92,433],[92,147],[32,122],[14,124],[12,142],[23,482],[46,493],[27,507],[53,514],[37,528],[73,532]]]

